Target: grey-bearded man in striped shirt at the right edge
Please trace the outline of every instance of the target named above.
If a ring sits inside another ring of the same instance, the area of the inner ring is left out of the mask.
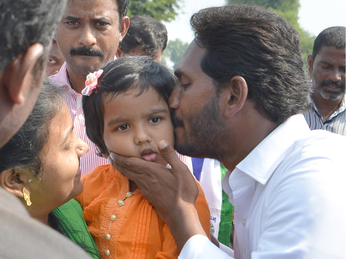
[[[308,69],[312,109],[304,114],[311,130],[323,129],[346,136],[345,27],[327,28],[317,36]]]

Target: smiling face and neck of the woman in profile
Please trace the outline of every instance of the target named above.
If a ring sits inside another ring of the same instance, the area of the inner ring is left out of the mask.
[[[66,103],[58,111],[49,128],[48,141],[40,152],[43,165],[41,179],[28,184],[34,218],[49,212],[74,198],[83,190],[80,157],[89,146],[73,132],[73,123]]]

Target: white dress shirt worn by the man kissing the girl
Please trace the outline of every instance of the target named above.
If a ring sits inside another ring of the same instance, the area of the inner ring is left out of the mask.
[[[345,142],[339,134],[311,131],[294,115],[226,173],[235,258],[345,258]],[[230,256],[195,235],[179,258]]]

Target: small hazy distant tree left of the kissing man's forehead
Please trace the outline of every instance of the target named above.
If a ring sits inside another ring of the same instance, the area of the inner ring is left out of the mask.
[[[163,62],[174,69],[188,46],[189,43],[183,42],[180,39],[170,40],[162,55]]]

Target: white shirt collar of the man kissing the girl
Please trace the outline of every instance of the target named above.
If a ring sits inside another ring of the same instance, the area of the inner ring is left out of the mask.
[[[308,134],[303,115],[293,115],[258,144],[237,166],[257,182],[266,184],[276,167],[291,153],[292,144]]]

